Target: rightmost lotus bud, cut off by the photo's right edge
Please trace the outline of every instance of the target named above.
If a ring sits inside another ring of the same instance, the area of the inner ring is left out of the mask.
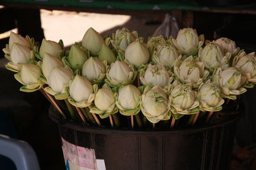
[[[256,59],[251,55],[244,55],[243,57],[237,56],[237,62],[234,67],[236,67],[244,76],[246,76],[247,81],[256,83]]]

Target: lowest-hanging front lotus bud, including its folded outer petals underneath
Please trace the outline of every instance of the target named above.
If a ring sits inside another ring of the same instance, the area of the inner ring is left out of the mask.
[[[167,120],[170,103],[165,92],[158,85],[151,90],[145,89],[142,94],[141,111],[147,119],[152,123],[157,123],[160,120]]]

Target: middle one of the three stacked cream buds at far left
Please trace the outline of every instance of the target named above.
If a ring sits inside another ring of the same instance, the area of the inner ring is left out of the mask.
[[[14,64],[28,64],[29,60],[34,59],[31,50],[18,43],[13,43],[10,57]]]

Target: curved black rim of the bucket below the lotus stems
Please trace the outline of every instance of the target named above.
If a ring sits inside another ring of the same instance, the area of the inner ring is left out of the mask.
[[[81,132],[92,132],[95,134],[122,134],[122,135],[133,135],[133,136],[166,136],[169,134],[175,135],[175,134],[193,134],[198,132],[206,132],[211,131],[218,128],[227,127],[228,125],[232,125],[239,118],[243,116],[242,113],[240,113],[237,117],[231,118],[230,120],[227,120],[225,122],[220,122],[216,124],[205,124],[202,126],[195,126],[195,127],[189,127],[184,129],[166,129],[166,130],[154,130],[154,129],[148,129],[148,130],[131,130],[131,129],[117,129],[117,128],[111,128],[111,127],[97,127],[97,126],[90,126],[83,123],[75,123],[71,121],[64,120],[63,118],[60,118],[59,115],[55,114],[57,111],[54,111],[54,108],[52,106],[49,107],[49,117],[53,122],[60,125],[61,127],[67,127],[69,129],[74,129],[76,131]]]

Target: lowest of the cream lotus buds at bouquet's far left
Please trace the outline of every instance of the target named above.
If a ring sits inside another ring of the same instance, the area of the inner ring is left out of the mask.
[[[20,68],[20,77],[25,84],[38,83],[40,75],[40,67],[34,64],[22,64]]]

